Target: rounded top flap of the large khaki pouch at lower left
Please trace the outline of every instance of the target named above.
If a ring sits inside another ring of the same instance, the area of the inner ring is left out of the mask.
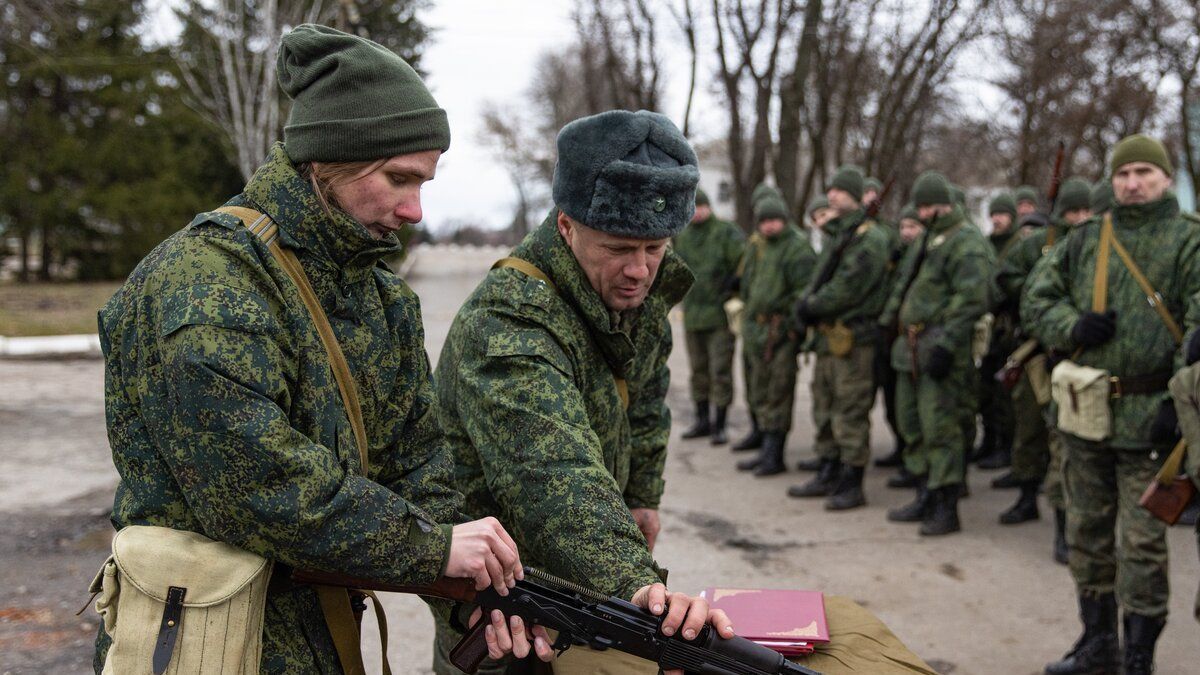
[[[122,581],[158,602],[170,586],[187,589],[184,607],[220,604],[246,587],[269,561],[196,532],[132,525],[113,538]]]

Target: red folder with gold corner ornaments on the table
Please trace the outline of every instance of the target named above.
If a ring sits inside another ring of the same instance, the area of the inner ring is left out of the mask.
[[[811,653],[829,641],[824,596],[818,591],[707,589],[701,597],[722,609],[743,638],[784,656]]]

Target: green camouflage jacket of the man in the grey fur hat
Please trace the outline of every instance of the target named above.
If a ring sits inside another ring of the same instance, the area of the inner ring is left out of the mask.
[[[434,377],[439,414],[468,513],[497,516],[526,565],[629,598],[659,580],[629,509],[662,495],[667,311],[691,273],[668,250],[642,306],[617,317],[556,216],[512,251],[553,287],[494,269],[458,310]]]

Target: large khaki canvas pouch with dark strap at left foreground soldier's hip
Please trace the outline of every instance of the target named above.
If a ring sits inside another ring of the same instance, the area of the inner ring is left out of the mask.
[[[104,675],[258,673],[270,577],[266,558],[196,532],[125,527],[91,583]]]

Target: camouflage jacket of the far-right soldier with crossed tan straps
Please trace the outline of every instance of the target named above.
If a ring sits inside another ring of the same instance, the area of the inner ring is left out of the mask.
[[[1112,209],[1116,239],[1163,297],[1164,306],[1187,335],[1200,323],[1200,227],[1180,214],[1174,196],[1150,204]],[[1070,338],[1080,313],[1092,309],[1092,281],[1103,220],[1093,217],[1070,231],[1037,265],[1021,299],[1021,319],[1044,346],[1072,353]],[[1183,365],[1158,312],[1146,301],[1116,252],[1109,261],[1108,307],[1116,311],[1116,335],[1085,350],[1074,360],[1116,377],[1170,375]],[[1116,448],[1147,448],[1159,401],[1168,394],[1132,394],[1112,400]]]

